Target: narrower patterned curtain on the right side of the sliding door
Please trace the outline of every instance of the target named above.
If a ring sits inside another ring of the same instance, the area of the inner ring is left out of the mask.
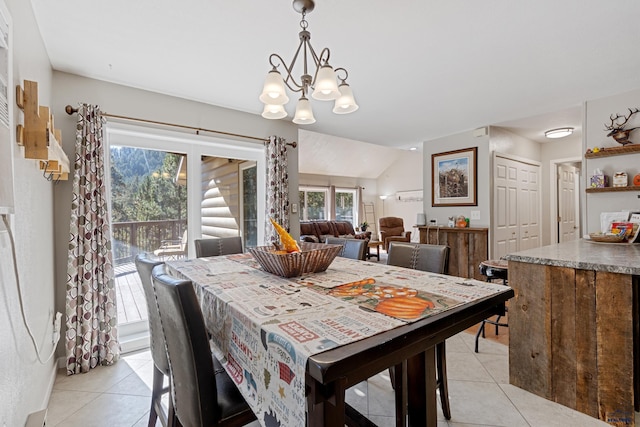
[[[278,241],[269,218],[273,218],[289,231],[289,175],[287,172],[287,143],[284,138],[272,136],[266,141],[267,206],[265,241],[267,245]]]

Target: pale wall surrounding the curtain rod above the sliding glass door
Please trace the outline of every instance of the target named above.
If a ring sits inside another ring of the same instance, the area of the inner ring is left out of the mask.
[[[63,148],[70,158],[73,158],[75,152],[77,118],[76,115],[67,115],[64,112],[64,107],[67,104],[76,107],[79,102],[97,104],[102,111],[110,114],[197,126],[240,135],[259,138],[278,135],[284,137],[288,142],[297,141],[298,137],[297,127],[290,122],[266,120],[259,115],[56,71],[53,73],[52,111],[56,116],[56,125],[62,130]],[[175,131],[176,129],[171,128],[171,130]],[[217,134],[207,135],[216,138],[222,137]],[[243,141],[246,142],[246,140]],[[260,141],[253,142],[262,145]],[[298,156],[296,149],[291,149],[289,155],[291,203],[298,202],[297,171]],[[55,190],[56,307],[59,311],[63,311],[72,180],[57,184]],[[291,217],[291,233],[294,235],[300,233],[297,215]],[[58,351],[60,350],[59,348]]]

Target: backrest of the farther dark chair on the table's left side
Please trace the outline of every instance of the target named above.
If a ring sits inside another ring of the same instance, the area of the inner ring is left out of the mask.
[[[151,340],[151,357],[156,368],[164,375],[169,375],[169,361],[167,360],[167,349],[160,324],[160,313],[156,303],[156,295],[153,292],[151,283],[151,270],[156,265],[163,264],[162,261],[152,259],[147,253],[140,253],[135,258],[136,270],[140,276],[144,296],[147,300],[147,316],[149,320],[149,335]]]

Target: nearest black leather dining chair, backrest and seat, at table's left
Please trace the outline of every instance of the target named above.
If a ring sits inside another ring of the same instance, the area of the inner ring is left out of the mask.
[[[156,266],[151,277],[171,365],[174,425],[235,427],[254,421],[255,414],[211,354],[193,284],[165,269]]]

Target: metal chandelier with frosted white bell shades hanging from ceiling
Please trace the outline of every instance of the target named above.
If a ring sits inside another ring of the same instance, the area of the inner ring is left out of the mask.
[[[284,105],[289,102],[285,85],[293,92],[300,92],[300,99],[296,106],[296,114],[293,122],[296,124],[312,124],[316,119],[313,117],[311,103],[307,98],[310,90],[313,90],[311,97],[320,101],[335,101],[333,112],[336,114],[352,113],[358,109],[353,98],[353,92],[347,84],[349,76],[344,68],[335,70],[329,65],[330,51],[328,48],[322,49],[320,55],[316,54],[310,43],[311,33],[307,31],[308,23],[305,16],[311,12],[315,4],[313,0],[293,0],[293,9],[302,14],[300,21],[300,44],[296,50],[293,60],[287,66],[286,62],[277,53],[269,56],[269,63],[272,66],[264,82],[264,88],[260,95],[260,101],[264,103],[262,117],[266,119],[282,119],[287,117]],[[300,80],[296,80],[292,74],[293,67],[302,53],[303,74]],[[309,68],[309,63],[311,68]],[[284,64],[286,78],[283,78],[278,71],[278,66]],[[310,74],[310,71],[312,74]],[[338,85],[337,79],[340,80]]]

